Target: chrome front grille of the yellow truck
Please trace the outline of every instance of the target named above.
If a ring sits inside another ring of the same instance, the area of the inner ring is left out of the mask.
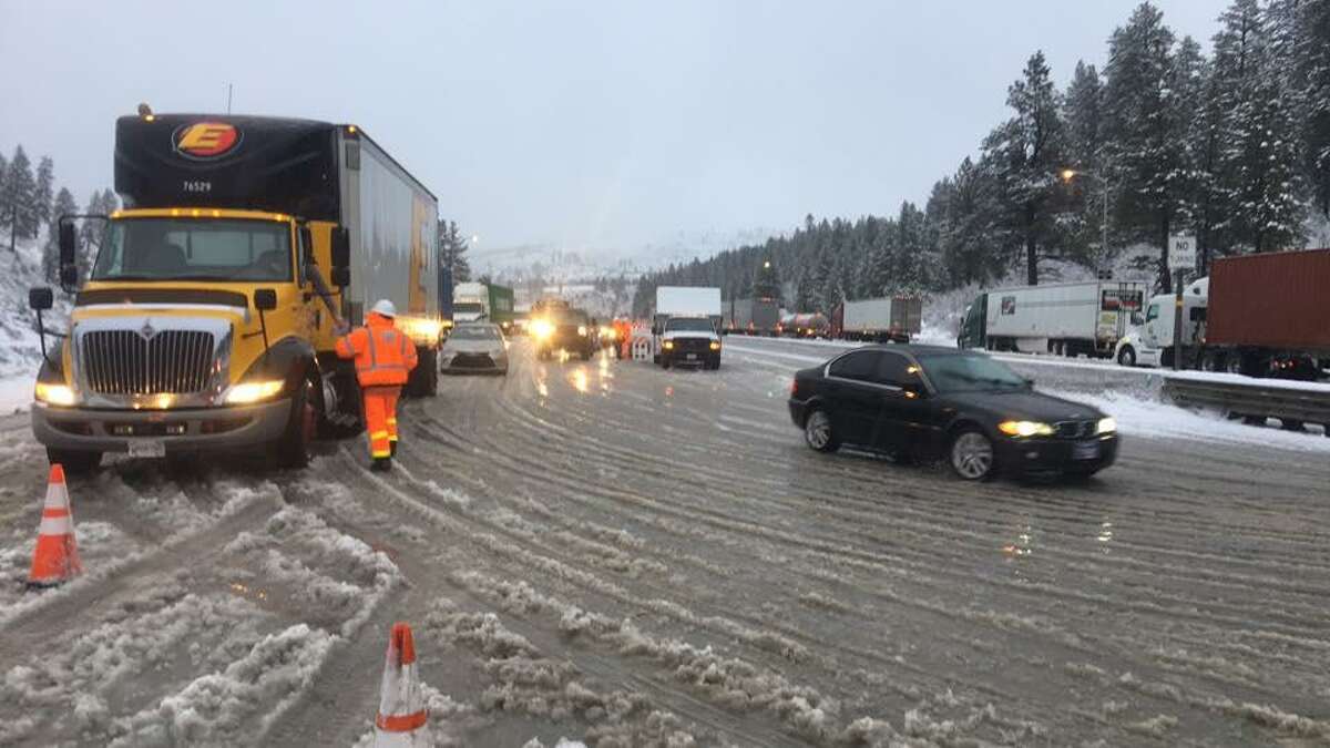
[[[108,395],[189,394],[207,386],[211,333],[90,330],[82,335],[82,370],[94,393]]]

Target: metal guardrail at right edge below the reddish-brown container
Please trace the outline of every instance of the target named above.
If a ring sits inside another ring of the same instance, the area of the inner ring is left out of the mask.
[[[1281,387],[1277,381],[1249,383],[1166,378],[1164,394],[1189,407],[1213,407],[1232,415],[1254,415],[1323,423],[1330,435],[1330,391]]]

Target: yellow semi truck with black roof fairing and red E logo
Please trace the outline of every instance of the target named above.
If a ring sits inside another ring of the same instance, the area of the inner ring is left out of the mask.
[[[435,391],[438,201],[358,126],[121,117],[114,182],[125,209],[105,217],[86,278],[60,221],[73,310],[32,409],[52,462],[243,451],[303,466],[318,431],[360,429],[354,365],[334,346],[379,298],[420,355],[408,391]],[[52,301],[29,294],[37,310]]]

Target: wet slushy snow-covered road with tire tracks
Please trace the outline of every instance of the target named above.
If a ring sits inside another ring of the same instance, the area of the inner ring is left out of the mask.
[[[1325,437],[1156,433],[1100,383],[1148,377],[1044,367],[1156,421],[1088,483],[971,486],[803,447],[790,374],[831,351],[513,353],[408,402],[388,475],[346,442],[74,482],[90,574],[40,596],[44,465],[0,421],[0,744],[351,745],[394,620],[438,744],[1330,740]]]

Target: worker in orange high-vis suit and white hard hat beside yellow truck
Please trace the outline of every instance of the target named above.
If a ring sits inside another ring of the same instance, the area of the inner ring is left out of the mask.
[[[398,398],[416,366],[415,343],[394,326],[396,315],[392,302],[380,299],[370,309],[363,327],[336,341],[336,354],[355,359],[374,470],[392,467],[398,453]]]

